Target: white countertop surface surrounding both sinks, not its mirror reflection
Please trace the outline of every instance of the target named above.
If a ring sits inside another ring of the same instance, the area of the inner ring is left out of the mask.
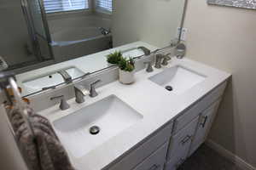
[[[164,68],[154,69],[152,73],[148,73],[145,70],[138,71],[136,73],[136,82],[131,85],[123,85],[118,81],[112,82],[102,88],[97,88],[99,95],[96,98],[86,97],[84,104],[79,105],[74,99],[70,99],[68,103],[71,108],[67,111],[60,111],[58,105],[55,105],[41,111],[39,114],[47,116],[50,122],[54,122],[111,94],[116,95],[127,105],[142,114],[142,120],[84,156],[75,158],[67,150],[74,167],[77,169],[100,170],[119,156],[122,156],[148,135],[154,133],[166,122],[170,122],[174,117],[230,77],[230,74],[224,71],[219,71],[190,59],[172,59],[167,67],[172,67],[173,65],[183,65],[183,67],[199,72],[207,76],[207,78],[185,93],[177,95],[166,92],[165,88],[148,80],[148,77],[163,71]]]

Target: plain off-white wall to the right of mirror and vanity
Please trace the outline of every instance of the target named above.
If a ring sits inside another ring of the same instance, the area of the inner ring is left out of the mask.
[[[233,74],[210,139],[256,167],[256,10],[189,1],[188,54]]]

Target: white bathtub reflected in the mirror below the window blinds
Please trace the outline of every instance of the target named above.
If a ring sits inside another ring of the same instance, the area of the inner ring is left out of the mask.
[[[68,28],[52,34],[55,59],[64,61],[112,48],[112,36],[97,27]]]

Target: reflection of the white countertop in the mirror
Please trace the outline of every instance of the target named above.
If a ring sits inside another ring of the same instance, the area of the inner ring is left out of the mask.
[[[113,53],[114,51],[126,51],[131,48],[138,48],[140,46],[146,47],[150,49],[151,51],[154,51],[157,49],[156,47],[146,43],[146,42],[132,42],[129,44],[125,44],[123,46],[117,47],[117,48],[112,48],[108,49],[96,54],[90,54],[90,55],[85,55],[84,57],[79,57],[77,59],[71,59],[65,62],[61,62],[58,64],[54,65],[49,65],[40,69],[36,69],[33,71],[27,71],[24,73],[21,73],[19,75],[16,75],[17,83],[20,88],[22,88],[22,96],[25,96],[27,94],[31,94],[29,91],[26,90],[26,87],[24,86],[23,82],[38,78],[38,77],[43,77],[45,75],[52,74],[54,71],[60,71],[62,69],[67,69],[70,67],[76,67],[80,71],[83,71],[84,73],[87,72],[94,72],[94,71],[99,71],[102,70],[103,68],[108,67],[108,62],[106,56],[110,53]],[[137,57],[139,55],[143,55],[143,53],[139,52],[134,52],[130,51],[125,53],[125,55],[129,55],[132,57]],[[61,82],[60,82],[61,83]],[[35,91],[36,92],[36,91]],[[32,92],[32,93],[35,93]]]

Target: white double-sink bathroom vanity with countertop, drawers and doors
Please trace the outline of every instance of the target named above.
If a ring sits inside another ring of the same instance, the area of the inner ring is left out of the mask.
[[[83,104],[69,99],[67,111],[54,105],[39,114],[52,122],[77,169],[174,170],[207,139],[229,77],[173,58],[153,72],[137,71],[131,85],[111,82]],[[95,135],[93,126],[100,129]]]

